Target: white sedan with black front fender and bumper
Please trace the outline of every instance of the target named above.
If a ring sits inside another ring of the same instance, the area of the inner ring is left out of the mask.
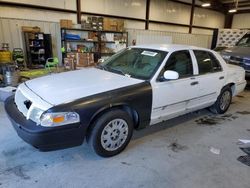
[[[133,129],[198,109],[227,111],[246,86],[245,71],[216,52],[183,45],[129,47],[95,68],[19,85],[5,102],[18,135],[40,150],[82,144],[120,153]]]

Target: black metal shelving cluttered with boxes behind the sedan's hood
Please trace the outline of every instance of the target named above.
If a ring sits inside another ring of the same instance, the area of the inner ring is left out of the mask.
[[[128,46],[128,33],[92,29],[61,28],[64,65],[74,69],[94,65]]]

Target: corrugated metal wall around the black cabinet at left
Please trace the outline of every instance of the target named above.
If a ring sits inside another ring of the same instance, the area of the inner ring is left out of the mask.
[[[61,60],[61,31],[57,22],[0,18],[0,46],[2,47],[1,43],[9,43],[10,50],[13,48],[25,50],[22,26],[38,26],[41,28],[41,32],[51,34],[53,56],[57,56]]]

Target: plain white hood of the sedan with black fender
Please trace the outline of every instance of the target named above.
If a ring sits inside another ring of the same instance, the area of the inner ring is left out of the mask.
[[[97,68],[52,74],[27,81],[26,86],[52,105],[143,82]]]

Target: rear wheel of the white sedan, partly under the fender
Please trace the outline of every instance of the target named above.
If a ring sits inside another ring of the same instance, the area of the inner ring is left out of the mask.
[[[210,107],[210,111],[215,114],[224,114],[232,101],[232,90],[229,86],[222,88],[219,97],[213,106]]]

